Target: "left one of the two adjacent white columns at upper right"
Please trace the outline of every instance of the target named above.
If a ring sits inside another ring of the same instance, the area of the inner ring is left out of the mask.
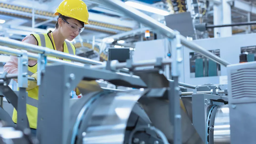
[[[222,24],[222,5],[214,4],[213,6],[213,24]],[[214,28],[214,38],[221,37],[221,28]]]

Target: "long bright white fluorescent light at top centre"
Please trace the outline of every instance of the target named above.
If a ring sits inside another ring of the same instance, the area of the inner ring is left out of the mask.
[[[128,5],[128,6],[134,7],[135,9],[140,9],[140,10],[144,10],[144,11],[148,11],[148,12],[151,12],[151,13],[164,15],[164,16],[169,15],[168,11],[157,9],[157,8],[151,7],[151,6],[146,6],[146,5],[143,5],[141,3],[126,1],[125,4]]]

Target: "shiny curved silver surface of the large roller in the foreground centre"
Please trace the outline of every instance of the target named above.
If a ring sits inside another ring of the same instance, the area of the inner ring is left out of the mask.
[[[123,144],[128,118],[143,93],[135,90],[102,96],[88,117],[83,143]]]

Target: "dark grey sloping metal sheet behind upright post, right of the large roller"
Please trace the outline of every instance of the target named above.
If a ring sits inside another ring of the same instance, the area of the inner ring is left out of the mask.
[[[152,124],[166,135],[169,143],[173,143],[174,131],[169,117],[169,102],[156,98],[142,98],[139,103],[141,103]],[[183,109],[181,109],[181,125],[183,144],[203,144],[202,139]]]

